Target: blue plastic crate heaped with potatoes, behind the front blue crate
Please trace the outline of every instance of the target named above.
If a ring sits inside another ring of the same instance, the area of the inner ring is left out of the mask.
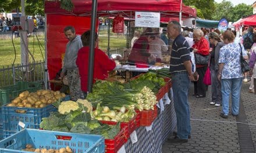
[[[19,112],[17,112],[19,111]],[[24,112],[20,112],[24,111]],[[19,121],[29,129],[39,129],[42,118],[48,117],[50,112],[56,108],[49,104],[43,108],[8,107],[2,106],[3,131],[13,134],[22,128],[18,125]],[[9,134],[7,134],[9,136]]]

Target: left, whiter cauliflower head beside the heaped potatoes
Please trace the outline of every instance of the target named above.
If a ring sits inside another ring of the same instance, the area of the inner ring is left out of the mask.
[[[65,114],[66,112],[69,113],[71,110],[76,111],[79,109],[79,104],[75,101],[63,101],[58,108],[59,113]]]

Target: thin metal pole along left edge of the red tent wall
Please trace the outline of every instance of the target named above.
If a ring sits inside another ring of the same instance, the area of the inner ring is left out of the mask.
[[[48,89],[48,68],[47,68],[47,14],[44,14],[44,88]]]

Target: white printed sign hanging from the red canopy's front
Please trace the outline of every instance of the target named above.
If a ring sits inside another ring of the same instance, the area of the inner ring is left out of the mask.
[[[160,27],[159,12],[135,12],[135,27]]]

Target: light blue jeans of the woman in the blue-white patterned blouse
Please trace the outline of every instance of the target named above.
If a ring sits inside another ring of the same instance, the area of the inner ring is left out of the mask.
[[[222,79],[222,112],[225,115],[229,114],[229,94],[232,94],[232,114],[239,114],[240,91],[243,78]]]

